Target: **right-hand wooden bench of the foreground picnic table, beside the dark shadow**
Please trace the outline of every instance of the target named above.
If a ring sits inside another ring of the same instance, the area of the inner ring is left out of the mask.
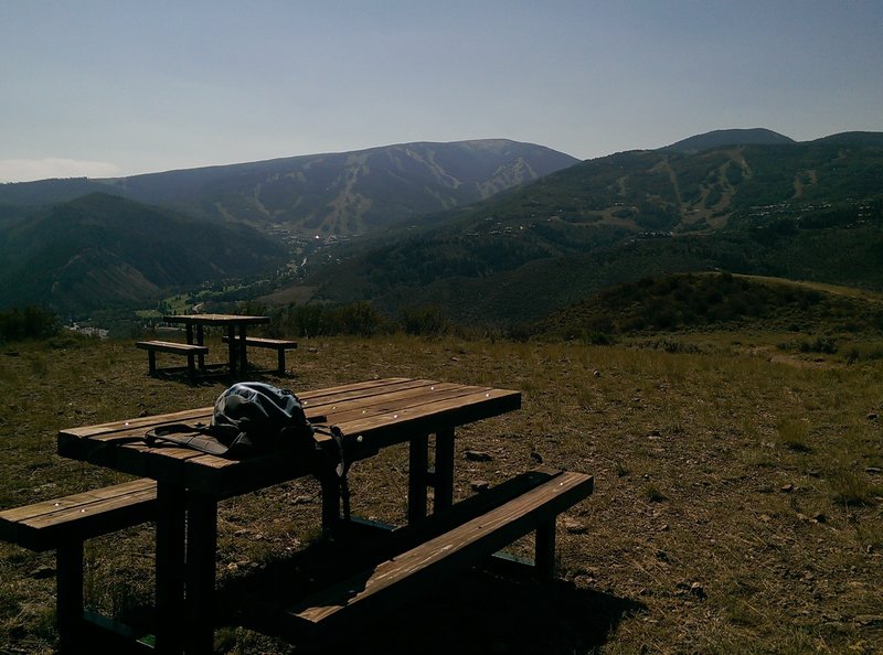
[[[482,498],[485,494],[479,494],[437,515],[437,520],[428,518],[427,528],[409,525],[401,535],[393,533],[393,540],[405,550],[289,606],[280,616],[281,636],[296,638],[320,625],[336,626],[357,610],[360,615],[362,611],[380,611],[457,569],[479,563],[531,531],[536,533],[536,571],[551,578],[555,518],[592,494],[593,477],[539,470],[501,486],[507,488],[497,497]],[[419,533],[426,529],[437,534],[421,540]]]

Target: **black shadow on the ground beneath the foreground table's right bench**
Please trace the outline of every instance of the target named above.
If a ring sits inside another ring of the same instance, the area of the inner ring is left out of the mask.
[[[573,655],[606,643],[642,603],[572,582],[468,570],[345,631],[319,632],[294,653]]]

